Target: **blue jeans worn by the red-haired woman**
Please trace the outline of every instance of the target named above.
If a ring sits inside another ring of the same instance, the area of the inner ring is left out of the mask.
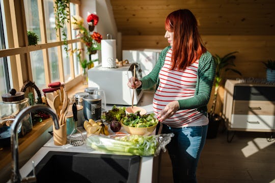
[[[171,128],[163,124],[162,133],[174,133],[167,145],[173,167],[174,183],[197,182],[196,170],[203,149],[208,125]]]

